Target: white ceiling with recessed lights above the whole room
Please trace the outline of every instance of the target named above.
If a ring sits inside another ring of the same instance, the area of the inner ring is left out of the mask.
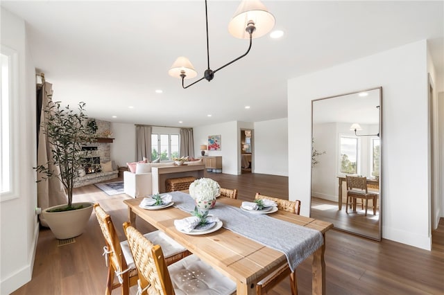
[[[248,48],[248,40],[228,33],[239,3],[208,1],[212,69]],[[188,57],[198,78],[207,68],[203,0],[1,1],[25,19],[33,61],[53,84],[54,99],[85,101],[90,117],[120,123],[194,127],[285,118],[289,78],[420,39],[429,39],[444,73],[443,1],[264,4],[284,37],[253,39],[250,53],[214,80],[182,89],[168,75],[176,57]]]

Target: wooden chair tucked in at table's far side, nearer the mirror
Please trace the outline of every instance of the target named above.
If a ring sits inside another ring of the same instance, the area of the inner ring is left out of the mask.
[[[266,195],[261,195],[260,193],[256,193],[255,199],[270,199],[278,204],[278,210],[295,213],[297,215],[300,213],[300,200],[289,201],[288,199],[268,197]],[[291,295],[297,295],[298,282],[296,280],[296,274],[291,271],[288,264],[259,281],[259,283],[257,283],[257,294],[267,294],[269,290],[273,289],[273,287],[278,285],[278,283],[284,280],[284,278],[287,278],[287,276],[290,277]]]

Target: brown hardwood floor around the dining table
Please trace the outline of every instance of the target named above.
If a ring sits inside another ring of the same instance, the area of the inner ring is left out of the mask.
[[[224,175],[208,173],[224,188],[237,188],[239,199],[252,200],[255,193],[286,198],[288,178],[273,175]],[[116,181],[113,179],[112,181]],[[127,220],[126,207],[121,202],[125,194],[108,196],[94,185],[75,190],[76,202],[99,202],[110,213],[123,240],[121,225]],[[137,220],[137,228],[153,228]],[[444,294],[444,220],[434,231],[433,250],[382,240],[375,242],[355,235],[331,230],[327,232],[325,264],[327,294]],[[33,278],[14,295],[22,294],[104,294],[106,271],[103,236],[94,213],[85,233],[74,244],[58,247],[49,229],[42,229],[37,244]],[[297,269],[300,295],[311,294],[311,259]],[[114,289],[112,294],[120,294]],[[137,288],[131,289],[135,295]],[[291,294],[289,280],[275,287],[271,295]]]

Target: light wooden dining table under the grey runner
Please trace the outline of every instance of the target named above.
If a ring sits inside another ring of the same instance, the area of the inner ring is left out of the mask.
[[[174,226],[174,220],[189,217],[190,213],[174,206],[153,211],[139,207],[142,198],[127,199],[123,202],[128,206],[128,220],[133,226],[136,225],[138,216],[164,231],[191,253],[234,280],[238,295],[256,294],[257,282],[288,263],[281,251],[268,248],[223,227],[204,235],[181,233]],[[237,208],[242,203],[240,200],[226,197],[219,197],[217,202]],[[312,255],[312,293],[325,294],[325,233],[332,229],[333,224],[280,210],[269,216],[315,229],[323,234],[323,245]]]

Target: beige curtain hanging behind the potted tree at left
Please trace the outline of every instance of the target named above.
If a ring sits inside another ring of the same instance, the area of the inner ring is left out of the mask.
[[[53,94],[52,84],[44,82],[41,87],[41,91],[37,91],[37,96],[40,95],[42,105],[42,111],[40,111],[40,125],[46,122],[46,117],[43,109],[46,105],[48,105],[49,97]],[[38,99],[39,97],[37,97],[37,100]],[[40,103],[37,103],[37,105],[40,105]],[[52,145],[48,142],[46,138],[46,134],[43,133],[43,128],[40,127],[37,146],[37,165],[49,166],[51,170],[59,173],[60,168],[58,166],[48,164],[49,159],[52,159],[51,146]],[[39,181],[37,182],[37,206],[44,210],[51,206],[67,204],[68,201],[65,193],[65,188],[62,186],[60,180],[58,180],[56,177],[51,177],[50,179],[45,180],[42,179],[43,176],[44,175],[42,175],[42,173],[37,172],[37,181]],[[42,214],[40,214],[39,216],[42,225],[47,226],[42,217]]]

